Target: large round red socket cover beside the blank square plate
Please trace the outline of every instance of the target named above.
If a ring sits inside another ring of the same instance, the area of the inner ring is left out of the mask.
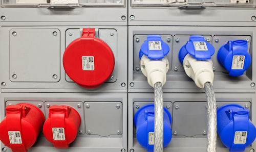
[[[83,29],[82,36],[71,42],[63,55],[66,73],[85,88],[96,88],[108,80],[115,65],[110,46],[94,35],[95,29]]]

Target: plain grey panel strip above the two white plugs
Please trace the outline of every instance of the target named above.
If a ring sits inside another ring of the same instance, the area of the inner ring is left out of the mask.
[[[130,3],[130,1],[129,1]],[[236,14],[236,15],[234,15]],[[179,9],[177,7],[132,7],[133,26],[255,26],[254,8]]]

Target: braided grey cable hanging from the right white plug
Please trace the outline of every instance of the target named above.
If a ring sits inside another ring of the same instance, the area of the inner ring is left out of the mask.
[[[216,152],[217,143],[217,108],[214,88],[206,82],[204,90],[207,98],[207,152]]]

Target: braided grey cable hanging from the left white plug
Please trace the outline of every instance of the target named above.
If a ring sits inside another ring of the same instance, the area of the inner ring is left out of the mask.
[[[155,136],[154,152],[163,151],[163,86],[157,82],[154,85],[155,93]]]

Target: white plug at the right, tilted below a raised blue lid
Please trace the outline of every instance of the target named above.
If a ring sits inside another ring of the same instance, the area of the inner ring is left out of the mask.
[[[211,59],[197,60],[187,54],[183,60],[183,67],[188,77],[193,79],[199,88],[203,89],[206,82],[213,84],[214,70]]]

